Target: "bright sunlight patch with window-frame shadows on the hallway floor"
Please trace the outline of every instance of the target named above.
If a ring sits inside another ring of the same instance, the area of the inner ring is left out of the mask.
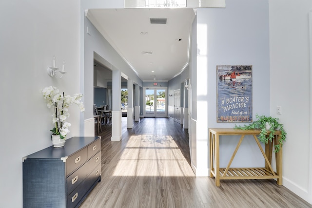
[[[170,135],[133,135],[117,163],[114,176],[194,176]]]

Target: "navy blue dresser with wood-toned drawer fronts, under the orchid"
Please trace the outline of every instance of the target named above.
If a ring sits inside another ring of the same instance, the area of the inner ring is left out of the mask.
[[[23,207],[78,207],[100,180],[101,138],[66,139],[23,158]]]

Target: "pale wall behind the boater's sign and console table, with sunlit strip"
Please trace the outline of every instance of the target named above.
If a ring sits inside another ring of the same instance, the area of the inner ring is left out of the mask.
[[[233,0],[225,9],[197,9],[196,175],[208,175],[208,129],[246,124],[216,122],[216,65],[253,65],[253,117],[269,115],[268,23],[268,2],[263,0]],[[238,139],[221,138],[220,166],[227,166]],[[263,166],[257,149],[253,138],[245,138],[233,167]]]

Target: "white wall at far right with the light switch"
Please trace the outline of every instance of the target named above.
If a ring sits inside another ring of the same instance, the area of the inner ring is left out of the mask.
[[[312,203],[309,21],[311,0],[269,0],[270,114],[287,131],[283,185]],[[282,114],[276,114],[276,106]],[[310,144],[310,145],[309,145]],[[310,185],[310,187],[309,187]],[[309,190],[310,188],[310,190]]]

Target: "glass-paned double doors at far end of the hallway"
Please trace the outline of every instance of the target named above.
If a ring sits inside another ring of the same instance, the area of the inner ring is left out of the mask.
[[[167,88],[144,88],[144,117],[167,117]]]

